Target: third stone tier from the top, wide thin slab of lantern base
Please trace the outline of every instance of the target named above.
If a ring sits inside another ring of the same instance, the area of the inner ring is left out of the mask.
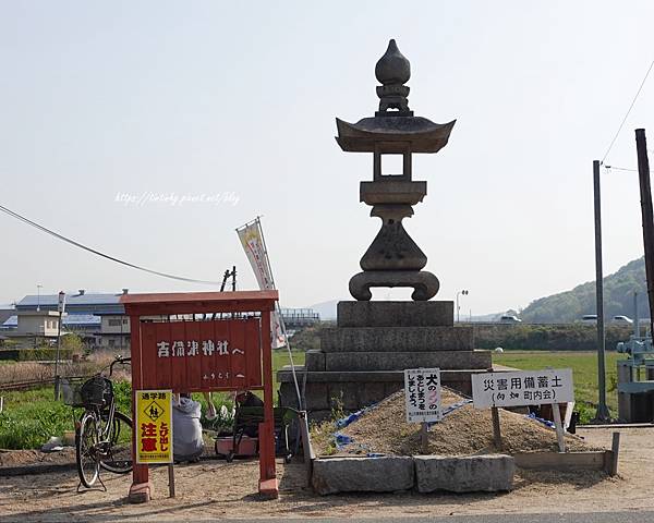
[[[488,368],[488,351],[436,352],[320,352],[306,353],[308,370],[403,370],[405,368],[439,367]]]

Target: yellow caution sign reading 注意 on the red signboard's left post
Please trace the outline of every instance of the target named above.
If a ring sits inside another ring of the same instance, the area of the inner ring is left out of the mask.
[[[172,463],[172,391],[136,391],[136,463]]]

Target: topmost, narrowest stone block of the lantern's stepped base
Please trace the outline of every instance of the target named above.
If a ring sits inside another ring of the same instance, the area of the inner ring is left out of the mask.
[[[339,302],[338,327],[451,327],[453,302]]]

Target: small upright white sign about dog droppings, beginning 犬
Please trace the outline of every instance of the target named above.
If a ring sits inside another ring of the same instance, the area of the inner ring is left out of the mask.
[[[407,423],[439,422],[440,369],[408,368],[404,370]]]

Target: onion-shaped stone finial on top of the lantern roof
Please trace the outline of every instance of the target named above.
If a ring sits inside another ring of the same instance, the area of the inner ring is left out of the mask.
[[[409,87],[404,84],[411,77],[411,63],[398,49],[395,39],[388,42],[384,56],[375,65],[375,76],[382,85],[377,86],[379,111],[376,117],[412,117],[409,110]],[[396,110],[389,110],[396,109]]]

